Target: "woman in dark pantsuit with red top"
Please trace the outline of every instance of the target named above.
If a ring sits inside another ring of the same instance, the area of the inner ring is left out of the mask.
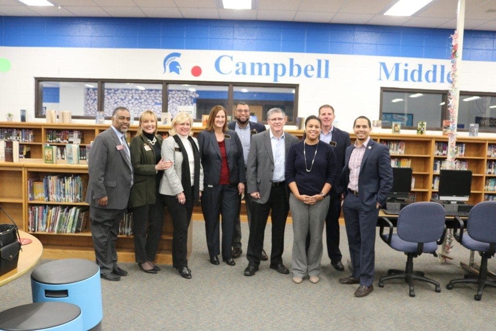
[[[243,146],[235,131],[227,128],[222,106],[210,110],[204,131],[198,133],[201,163],[205,170],[201,209],[205,219],[210,263],[219,264],[219,216],[222,214],[222,260],[235,265],[231,246],[235,220],[239,216],[239,195],[245,192],[246,169]]]

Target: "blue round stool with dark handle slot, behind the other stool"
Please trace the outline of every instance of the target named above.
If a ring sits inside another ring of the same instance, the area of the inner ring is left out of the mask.
[[[31,273],[33,302],[68,302],[81,308],[83,329],[103,318],[100,268],[92,261],[64,259],[37,266]]]

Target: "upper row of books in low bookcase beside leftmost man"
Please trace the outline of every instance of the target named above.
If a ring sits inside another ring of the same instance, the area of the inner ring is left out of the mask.
[[[83,202],[88,175],[47,175],[28,179],[28,199],[51,202]]]

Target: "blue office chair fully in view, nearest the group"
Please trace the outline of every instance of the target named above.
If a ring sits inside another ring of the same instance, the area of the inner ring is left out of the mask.
[[[431,278],[424,277],[424,272],[413,270],[413,258],[422,253],[435,254],[437,245],[444,240],[446,233],[446,213],[442,205],[436,202],[414,202],[404,207],[398,215],[396,233],[393,224],[386,217],[381,217],[380,238],[392,249],[404,252],[407,256],[405,271],[389,269],[387,276],[379,279],[379,287],[384,287],[384,281],[403,278],[408,283],[410,296],[415,296],[413,280],[423,280],[434,284],[435,291],[441,291],[441,285]],[[389,233],[384,235],[385,226]]]

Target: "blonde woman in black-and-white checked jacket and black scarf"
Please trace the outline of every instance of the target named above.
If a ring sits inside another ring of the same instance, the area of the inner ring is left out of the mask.
[[[203,169],[200,163],[198,141],[190,136],[193,118],[179,113],[172,121],[171,135],[162,144],[162,156],[173,166],[164,172],[160,193],[172,216],[172,265],[182,277],[191,278],[187,265],[187,229],[193,213],[193,204],[203,191]]]

